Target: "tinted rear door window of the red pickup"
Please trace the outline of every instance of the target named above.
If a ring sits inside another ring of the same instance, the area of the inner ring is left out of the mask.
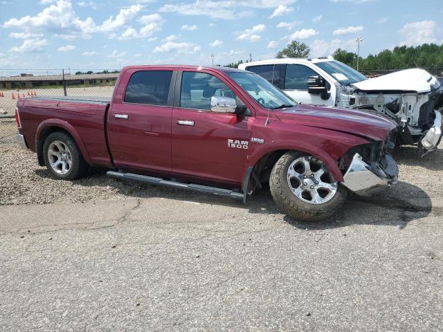
[[[127,84],[125,102],[168,105],[172,71],[136,71]]]

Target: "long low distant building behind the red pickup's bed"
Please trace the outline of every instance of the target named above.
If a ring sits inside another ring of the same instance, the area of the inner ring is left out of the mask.
[[[69,85],[114,85],[118,73],[112,74],[65,74],[66,86]],[[62,75],[33,76],[21,74],[20,76],[0,77],[0,89],[38,89],[43,86],[63,86]]]

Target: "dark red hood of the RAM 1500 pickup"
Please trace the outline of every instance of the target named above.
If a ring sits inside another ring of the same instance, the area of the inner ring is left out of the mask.
[[[390,131],[396,127],[390,120],[381,116],[338,107],[299,104],[290,109],[276,111],[275,116],[282,122],[343,131],[372,140],[386,140]]]

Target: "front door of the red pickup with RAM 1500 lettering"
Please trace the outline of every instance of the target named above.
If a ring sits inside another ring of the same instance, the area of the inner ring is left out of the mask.
[[[173,172],[242,183],[253,118],[210,111],[213,95],[237,98],[214,75],[183,72],[177,89],[179,107],[172,113]],[[239,142],[228,144],[228,140]]]

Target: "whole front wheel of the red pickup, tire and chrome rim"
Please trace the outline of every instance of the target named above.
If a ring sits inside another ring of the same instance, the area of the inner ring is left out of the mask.
[[[345,203],[347,189],[318,158],[287,152],[275,163],[269,180],[278,208],[293,219],[319,221]]]

